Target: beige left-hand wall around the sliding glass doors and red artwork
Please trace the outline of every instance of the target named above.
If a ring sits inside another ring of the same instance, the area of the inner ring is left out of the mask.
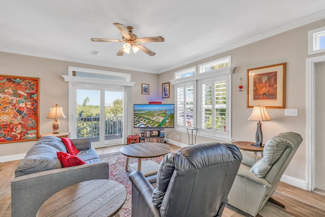
[[[159,100],[157,74],[0,52],[0,74],[40,78],[40,134],[52,132],[53,119],[46,118],[51,106],[62,106],[64,114],[69,117],[68,82],[62,77],[68,75],[68,66],[129,73],[132,81],[136,82],[132,87],[132,104]],[[141,94],[141,83],[149,84],[149,95]],[[68,132],[68,119],[59,120],[61,132]],[[24,154],[34,143],[35,141],[0,144],[0,158]]]

